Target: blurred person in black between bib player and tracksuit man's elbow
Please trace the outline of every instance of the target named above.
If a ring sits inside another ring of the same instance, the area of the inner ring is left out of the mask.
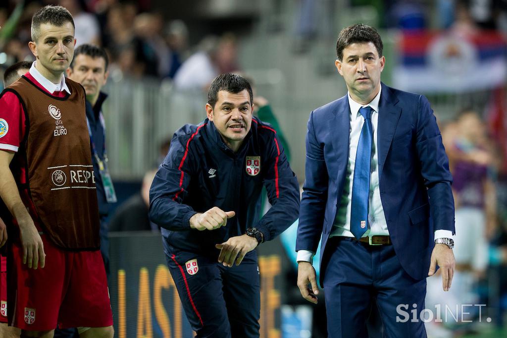
[[[146,173],[141,191],[118,207],[109,224],[109,231],[158,231],[158,226],[148,218],[150,186],[156,173],[156,170]]]

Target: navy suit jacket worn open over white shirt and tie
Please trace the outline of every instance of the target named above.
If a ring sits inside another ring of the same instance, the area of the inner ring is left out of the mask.
[[[380,198],[392,245],[405,271],[421,280],[429,269],[433,231],[454,233],[452,177],[440,130],[426,97],[382,84],[377,134]],[[347,95],[311,112],[296,250],[316,252],[322,239],[321,285],[349,140]]]

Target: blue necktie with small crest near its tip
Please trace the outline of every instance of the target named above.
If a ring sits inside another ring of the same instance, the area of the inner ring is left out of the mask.
[[[370,165],[372,158],[372,108],[363,107],[359,114],[365,118],[355,155],[354,180],[352,181],[352,206],[350,232],[360,239],[368,229],[368,202],[370,197]]]

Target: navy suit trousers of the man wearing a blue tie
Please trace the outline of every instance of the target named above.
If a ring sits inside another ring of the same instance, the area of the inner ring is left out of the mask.
[[[368,337],[366,323],[373,302],[380,312],[385,336],[426,337],[420,317],[426,279],[410,277],[392,245],[370,246],[351,238],[333,237],[326,251],[329,260],[323,287],[330,338]]]

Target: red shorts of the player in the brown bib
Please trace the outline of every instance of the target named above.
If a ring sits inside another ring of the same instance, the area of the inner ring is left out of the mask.
[[[23,264],[23,249],[12,245],[9,257],[9,323],[30,330],[113,325],[104,262],[100,250],[65,251],[41,235],[46,265]]]

